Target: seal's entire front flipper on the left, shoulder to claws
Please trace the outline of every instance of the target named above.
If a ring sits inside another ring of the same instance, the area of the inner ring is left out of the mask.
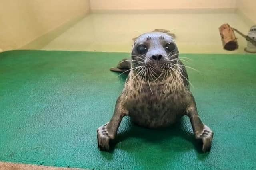
[[[100,150],[108,151],[110,149],[110,140],[115,139],[122,118],[128,115],[128,111],[123,108],[122,103],[119,97],[116,101],[114,115],[111,120],[97,129],[98,147]]]

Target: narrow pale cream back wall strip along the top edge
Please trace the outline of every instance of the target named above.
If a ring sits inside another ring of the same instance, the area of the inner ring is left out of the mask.
[[[236,8],[236,0],[90,0],[92,10]]]

